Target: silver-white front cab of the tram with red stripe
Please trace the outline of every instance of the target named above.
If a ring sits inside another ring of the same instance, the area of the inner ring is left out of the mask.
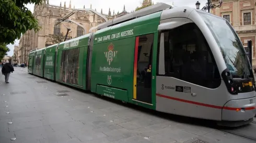
[[[158,30],[156,110],[228,126],[253,120],[252,68],[227,20],[174,7],[162,11]]]

